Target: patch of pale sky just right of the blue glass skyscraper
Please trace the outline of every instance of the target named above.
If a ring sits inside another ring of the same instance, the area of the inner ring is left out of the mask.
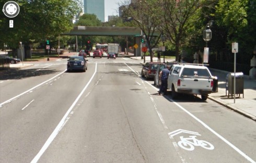
[[[108,20],[108,16],[118,15],[118,4],[121,4],[123,0],[105,0],[105,21]]]

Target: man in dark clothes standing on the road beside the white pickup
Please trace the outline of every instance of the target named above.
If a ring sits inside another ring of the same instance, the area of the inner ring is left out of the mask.
[[[161,95],[161,92],[164,92],[165,95],[167,93],[167,80],[168,80],[169,74],[170,74],[170,65],[166,65],[166,68],[160,71],[161,86],[158,91],[159,95]]]

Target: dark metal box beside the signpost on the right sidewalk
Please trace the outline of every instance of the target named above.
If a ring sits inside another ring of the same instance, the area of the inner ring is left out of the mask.
[[[231,97],[234,95],[234,79],[235,79],[235,73],[228,73],[226,76],[226,95],[228,91],[228,97],[229,94],[231,94]],[[236,94],[242,94],[243,95],[243,73],[242,72],[236,72]]]

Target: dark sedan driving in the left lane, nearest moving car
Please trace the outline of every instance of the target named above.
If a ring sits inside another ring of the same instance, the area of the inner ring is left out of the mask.
[[[83,56],[71,56],[67,60],[67,71],[83,70],[85,72],[87,70],[87,61]]]

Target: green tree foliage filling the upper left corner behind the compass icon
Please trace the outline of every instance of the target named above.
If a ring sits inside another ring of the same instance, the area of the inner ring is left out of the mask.
[[[0,35],[4,40],[0,44],[7,44],[10,48],[17,48],[22,41],[36,42],[58,36],[72,28],[71,20],[82,12],[79,0],[20,0],[19,15],[14,20],[14,28],[9,28],[9,18],[0,15]],[[0,2],[3,6],[4,2]]]

